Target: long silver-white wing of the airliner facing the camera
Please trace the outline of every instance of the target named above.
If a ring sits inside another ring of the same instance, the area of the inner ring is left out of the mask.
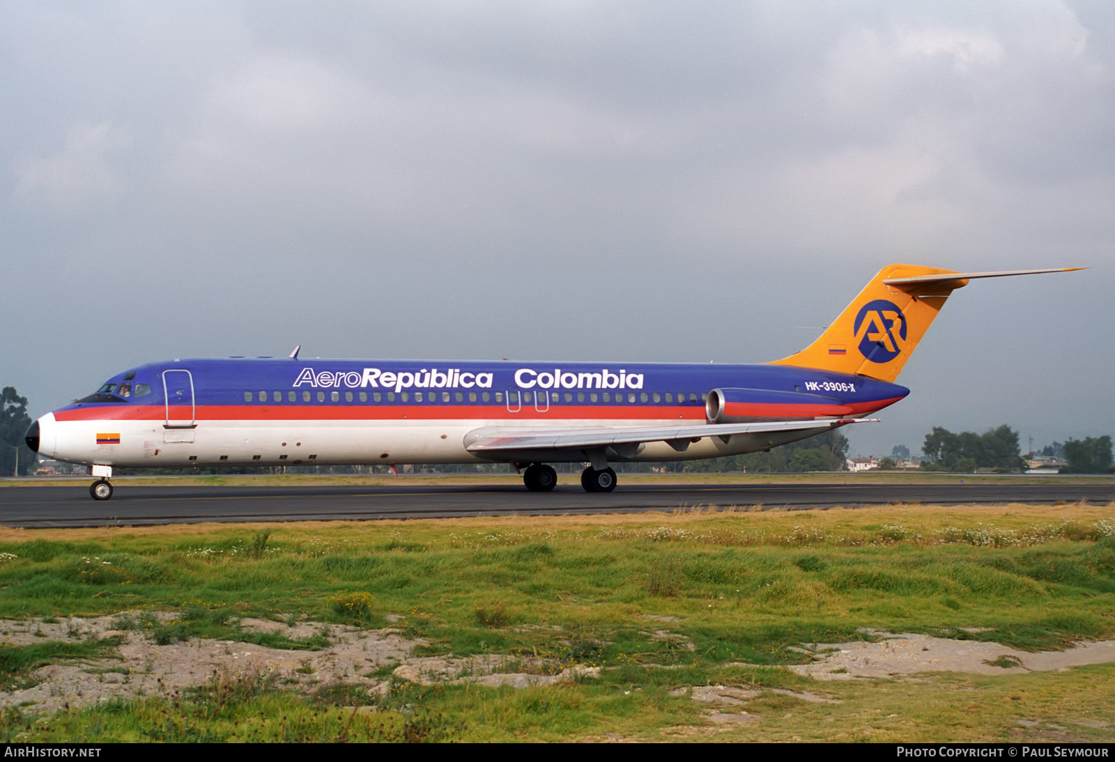
[[[786,433],[816,430],[817,433],[845,423],[878,421],[876,418],[840,418],[806,421],[764,421],[756,423],[700,423],[697,426],[648,426],[631,428],[537,428],[486,427],[465,434],[465,449],[469,452],[498,452],[501,450],[563,450],[598,449],[613,444],[669,442],[683,450],[690,441],[701,437],[727,437],[745,433]]]

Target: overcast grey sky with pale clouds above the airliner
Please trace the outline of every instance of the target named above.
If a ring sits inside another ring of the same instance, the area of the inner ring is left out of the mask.
[[[0,4],[0,384],[195,355],[760,362],[957,292],[856,453],[1115,434],[1108,2]],[[813,329],[811,329],[813,326]]]

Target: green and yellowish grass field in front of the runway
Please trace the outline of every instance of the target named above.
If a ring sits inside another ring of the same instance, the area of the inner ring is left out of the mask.
[[[869,631],[1024,651],[1113,637],[1113,517],[1112,506],[888,506],[0,529],[8,621],[129,612],[122,626],[153,643],[299,649],[326,643],[239,623],[394,624],[427,642],[421,656],[600,667],[569,683],[492,688],[416,683],[387,664],[309,694],[266,675],[217,675],[181,695],[41,717],[9,709],[0,740],[1111,741],[1115,664],[846,682],[789,666],[811,658],[802,644],[876,637]],[[0,646],[0,690],[33,684],[38,665],[117,646]],[[707,685],[749,692],[719,710],[747,716],[710,715],[691,697]]]

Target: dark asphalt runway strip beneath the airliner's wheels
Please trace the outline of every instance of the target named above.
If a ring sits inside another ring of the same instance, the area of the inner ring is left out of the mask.
[[[520,486],[406,485],[389,487],[130,487],[116,482],[106,501],[89,497],[86,482],[65,487],[0,489],[0,525],[8,527],[103,527],[203,521],[306,521],[419,519],[459,516],[634,514],[692,506],[831,508],[871,505],[1054,505],[1115,500],[1107,479],[1050,485],[1010,478],[966,485],[632,485],[590,494],[559,486],[527,492]]]

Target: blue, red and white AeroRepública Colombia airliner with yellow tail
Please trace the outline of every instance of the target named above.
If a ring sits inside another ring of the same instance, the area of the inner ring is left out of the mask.
[[[760,364],[224,358],[156,362],[108,379],[27,432],[32,450],[88,466],[94,499],[114,468],[314,463],[512,463],[532,491],[549,463],[768,450],[869,418],[946,300],[970,280],[1080,267],[959,273],[884,267],[813,344]]]

